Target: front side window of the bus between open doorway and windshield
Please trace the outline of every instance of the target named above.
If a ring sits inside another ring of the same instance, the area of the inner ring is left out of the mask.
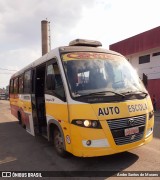
[[[65,92],[57,62],[47,66],[46,91],[65,101]]]

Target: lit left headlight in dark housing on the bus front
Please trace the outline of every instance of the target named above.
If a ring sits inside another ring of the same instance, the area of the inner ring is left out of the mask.
[[[102,129],[101,124],[98,120],[73,120],[72,124],[86,127],[86,128],[95,128],[95,129]]]

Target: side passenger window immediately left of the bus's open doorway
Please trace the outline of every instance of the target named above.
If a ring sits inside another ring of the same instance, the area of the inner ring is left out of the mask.
[[[24,93],[30,94],[31,87],[31,70],[29,70],[24,73]]]

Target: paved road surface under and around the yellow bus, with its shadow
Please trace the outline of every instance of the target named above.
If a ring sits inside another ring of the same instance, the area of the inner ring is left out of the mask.
[[[154,139],[145,146],[111,156],[94,158],[70,156],[63,159],[57,156],[52,144],[48,143],[46,139],[33,137],[21,128],[17,120],[10,114],[9,102],[1,100],[0,171],[11,170],[160,171],[160,114],[156,114],[155,118]],[[112,176],[113,173],[110,172],[109,175]],[[109,179],[114,179],[114,177]]]

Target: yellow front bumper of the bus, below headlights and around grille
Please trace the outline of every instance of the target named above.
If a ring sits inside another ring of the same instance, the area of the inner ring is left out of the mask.
[[[148,119],[148,118],[146,118]],[[145,122],[143,136],[140,139],[124,144],[116,144],[110,127],[106,121],[101,121],[102,129],[89,129],[72,125],[72,154],[79,157],[93,157],[116,154],[128,151],[153,139],[154,117]],[[135,135],[133,135],[134,137]],[[132,135],[131,135],[132,137]]]

